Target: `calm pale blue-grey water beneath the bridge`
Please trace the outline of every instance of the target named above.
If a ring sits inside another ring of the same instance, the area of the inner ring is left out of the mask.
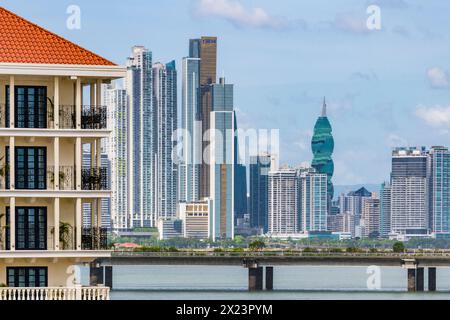
[[[367,268],[274,268],[274,291],[248,292],[248,270],[224,266],[114,266],[112,300],[448,299],[450,268],[437,269],[436,293],[406,292],[406,270],[383,267],[381,288],[367,287]],[[426,271],[426,270],[425,270]],[[82,272],[87,282],[88,270]],[[425,272],[425,288],[427,275]]]

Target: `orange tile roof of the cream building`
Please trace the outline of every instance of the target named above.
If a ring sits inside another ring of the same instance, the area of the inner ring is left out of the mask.
[[[2,62],[116,65],[0,7],[0,63]]]

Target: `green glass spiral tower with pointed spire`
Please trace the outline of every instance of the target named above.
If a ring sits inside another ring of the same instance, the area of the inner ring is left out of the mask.
[[[314,155],[312,167],[319,173],[326,173],[328,176],[328,199],[333,199],[334,188],[331,178],[334,173],[334,163],[331,155],[334,151],[334,139],[331,132],[330,121],[327,117],[327,104],[323,99],[322,115],[317,119],[314,126],[314,135],[312,137],[311,148]]]

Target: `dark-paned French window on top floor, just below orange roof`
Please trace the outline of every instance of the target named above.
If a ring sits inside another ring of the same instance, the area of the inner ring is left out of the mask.
[[[15,86],[16,128],[47,128],[47,87]],[[9,86],[6,86],[6,124],[9,127]]]

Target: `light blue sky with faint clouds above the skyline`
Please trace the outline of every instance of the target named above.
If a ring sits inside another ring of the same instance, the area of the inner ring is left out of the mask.
[[[326,96],[338,185],[388,180],[393,147],[450,146],[450,1],[0,3],[122,65],[144,45],[155,62],[180,67],[188,39],[217,36],[218,75],[235,85],[238,126],[279,129],[281,164],[311,162]],[[80,29],[67,28],[70,5],[80,8]],[[366,26],[370,5],[380,9],[380,30]]]

